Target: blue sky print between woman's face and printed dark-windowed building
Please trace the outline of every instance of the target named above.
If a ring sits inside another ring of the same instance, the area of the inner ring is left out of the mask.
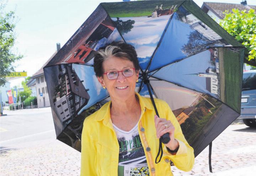
[[[84,80],[82,84],[85,86],[85,89],[89,89],[88,91],[90,95],[89,102],[85,107],[83,107],[80,110],[80,112],[82,112],[84,109],[94,105],[95,103],[103,100],[103,98],[108,96],[107,90],[103,89],[101,84],[98,82],[98,79],[94,73],[93,67],[82,65],[82,64],[72,64],[72,67],[74,68],[79,79]]]

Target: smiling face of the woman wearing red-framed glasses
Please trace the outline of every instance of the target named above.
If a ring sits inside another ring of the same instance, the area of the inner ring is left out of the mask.
[[[119,57],[109,57],[103,63],[103,73],[110,71],[121,71],[126,68],[134,68],[134,64],[129,59]],[[118,78],[110,80],[106,74],[98,77],[98,81],[102,86],[105,86],[110,93],[111,100],[128,100],[134,96],[136,81],[139,77],[139,72],[134,70],[134,74],[130,77],[125,77],[122,72],[119,72]]]

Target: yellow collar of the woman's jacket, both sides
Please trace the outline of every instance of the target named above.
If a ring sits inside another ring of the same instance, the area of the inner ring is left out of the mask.
[[[143,110],[144,108],[147,109],[154,109],[153,104],[151,103],[150,98],[145,98],[139,95],[139,93],[135,92],[135,95],[139,98],[140,108]],[[110,120],[110,105],[111,101],[104,104],[99,110],[95,117],[96,121],[103,120],[103,124],[107,125]]]

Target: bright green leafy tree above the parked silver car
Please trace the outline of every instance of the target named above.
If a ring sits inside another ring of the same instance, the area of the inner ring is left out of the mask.
[[[220,25],[236,40],[246,47],[244,63],[256,67],[256,15],[255,10],[225,11]]]

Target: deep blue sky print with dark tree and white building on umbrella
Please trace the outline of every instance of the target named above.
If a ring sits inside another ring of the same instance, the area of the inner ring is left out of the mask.
[[[166,66],[209,47],[225,45],[228,43],[224,39],[181,6],[174,13],[149,70]]]

